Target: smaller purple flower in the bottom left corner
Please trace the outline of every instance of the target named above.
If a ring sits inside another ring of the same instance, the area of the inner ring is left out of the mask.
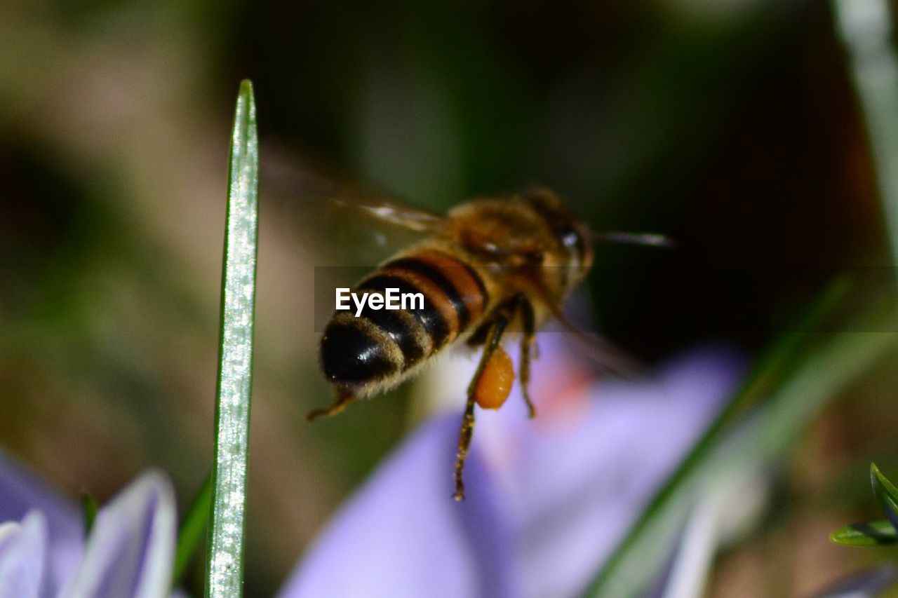
[[[0,454],[0,521],[0,598],[170,593],[175,501],[162,473],[101,508],[85,544],[81,510]]]

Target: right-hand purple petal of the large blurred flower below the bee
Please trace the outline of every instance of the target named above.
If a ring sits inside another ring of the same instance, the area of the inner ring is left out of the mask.
[[[528,427],[515,461],[516,545],[528,596],[575,595],[673,472],[744,371],[701,350],[647,383],[605,382],[581,422]]]

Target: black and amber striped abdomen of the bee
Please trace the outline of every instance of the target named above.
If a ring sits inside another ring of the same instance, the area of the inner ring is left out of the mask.
[[[321,366],[331,383],[365,394],[403,374],[453,342],[480,319],[489,300],[478,272],[435,249],[420,249],[383,264],[365,277],[357,294],[424,295],[424,308],[337,312],[321,339]]]

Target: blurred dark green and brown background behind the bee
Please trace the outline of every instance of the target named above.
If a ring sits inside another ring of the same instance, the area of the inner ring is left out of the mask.
[[[328,164],[440,211],[538,183],[595,230],[670,235],[674,251],[601,247],[588,284],[606,336],[649,365],[705,340],[758,355],[834,274],[890,265],[826,3],[0,11],[0,442],[73,496],[103,500],[157,466],[183,506],[207,473],[243,77],[263,168]],[[249,595],[277,588],[409,421],[401,389],[306,426],[330,401],[312,281],[331,254],[310,233],[318,208],[273,179],[260,198]],[[898,471],[896,383],[881,365],[816,419],[775,524],[719,558],[712,594],[762,594],[770,578],[807,594],[884,558],[827,534],[876,516],[870,461]]]

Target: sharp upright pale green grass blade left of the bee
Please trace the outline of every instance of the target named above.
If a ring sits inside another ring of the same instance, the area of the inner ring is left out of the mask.
[[[243,81],[234,112],[225,224],[216,449],[207,545],[206,594],[214,597],[242,594],[258,189],[256,105],[252,84]]]

